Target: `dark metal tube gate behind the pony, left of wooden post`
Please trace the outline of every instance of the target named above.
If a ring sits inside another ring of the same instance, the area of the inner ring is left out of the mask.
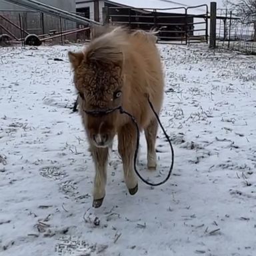
[[[108,6],[103,9],[103,19],[130,29],[160,29],[159,43],[208,43],[207,5],[170,9]]]

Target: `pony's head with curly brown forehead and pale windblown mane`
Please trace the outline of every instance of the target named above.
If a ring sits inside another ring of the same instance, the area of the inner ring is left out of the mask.
[[[127,33],[117,27],[93,39],[85,51],[69,52],[85,129],[96,147],[111,145],[117,131],[118,111],[107,115],[99,115],[97,111],[122,105],[126,45]]]

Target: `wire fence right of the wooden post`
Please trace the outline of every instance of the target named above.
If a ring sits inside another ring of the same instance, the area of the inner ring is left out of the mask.
[[[256,14],[249,23],[234,11],[218,9],[216,30],[217,47],[256,54]]]

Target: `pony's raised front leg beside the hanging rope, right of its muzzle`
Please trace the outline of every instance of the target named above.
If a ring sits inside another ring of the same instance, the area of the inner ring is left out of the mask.
[[[118,151],[123,161],[125,184],[131,195],[135,195],[138,191],[138,182],[133,166],[136,135],[137,133],[133,124],[125,125],[118,132]]]

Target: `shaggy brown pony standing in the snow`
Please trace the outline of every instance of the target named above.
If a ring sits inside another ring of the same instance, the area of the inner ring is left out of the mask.
[[[96,28],[97,29],[97,28]],[[158,124],[147,97],[159,113],[163,101],[164,79],[161,57],[154,33],[127,31],[123,27],[101,27],[81,52],[69,52],[74,83],[79,92],[79,111],[85,126],[95,163],[93,207],[100,207],[105,197],[108,151],[115,135],[123,161],[129,193],[138,190],[133,167],[136,127],[127,115],[114,111],[93,116],[85,111],[101,111],[122,106],[133,115],[147,140],[147,166],[155,169],[155,140]]]

